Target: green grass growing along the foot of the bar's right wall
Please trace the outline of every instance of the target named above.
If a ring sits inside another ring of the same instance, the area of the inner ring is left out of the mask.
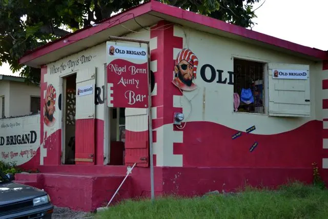
[[[241,193],[195,198],[163,197],[125,201],[94,218],[328,218],[328,190],[294,182],[276,191],[245,188]]]

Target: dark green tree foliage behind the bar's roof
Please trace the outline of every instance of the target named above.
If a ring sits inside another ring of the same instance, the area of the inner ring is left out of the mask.
[[[254,25],[253,4],[260,0],[161,0],[183,9],[211,16],[242,27]],[[18,64],[27,51],[69,32],[99,22],[119,10],[125,11],[142,1],[126,0],[0,0],[0,66],[22,70],[28,82],[40,81],[40,69]],[[25,19],[22,19],[24,17]]]

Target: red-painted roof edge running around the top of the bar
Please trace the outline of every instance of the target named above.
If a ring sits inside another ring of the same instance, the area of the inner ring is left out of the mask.
[[[74,44],[93,34],[99,33],[109,28],[113,28],[116,25],[119,25],[123,22],[127,22],[131,19],[134,19],[135,17],[147,13],[158,13],[160,14],[160,17],[163,17],[163,19],[165,19],[165,17],[171,17],[175,19],[180,19],[181,21],[189,22],[190,24],[196,24],[197,26],[208,27],[211,30],[216,30],[217,32],[225,32],[226,34],[229,34],[231,36],[239,37],[239,39],[245,38],[248,39],[250,42],[257,42],[260,45],[277,47],[280,50],[283,50],[284,52],[307,57],[314,61],[328,60],[328,54],[326,51],[285,41],[283,39],[276,38],[270,35],[259,33],[236,25],[228,24],[226,22],[219,21],[215,18],[182,10],[180,8],[176,8],[170,5],[162,4],[157,1],[150,1],[148,3],[139,5],[131,10],[112,16],[109,19],[106,19],[102,23],[98,24],[97,26],[81,29],[79,31],[76,31],[75,33],[60,38],[60,40],[56,42],[52,42],[43,47],[36,48],[35,50],[27,53],[22,58],[20,58],[19,64],[28,65],[29,62],[35,58],[54,52],[65,46]],[[117,20],[119,22],[116,22]],[[109,25],[101,25],[106,23],[109,23]]]

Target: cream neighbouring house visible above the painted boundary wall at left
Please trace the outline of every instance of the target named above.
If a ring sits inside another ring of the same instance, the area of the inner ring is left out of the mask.
[[[28,85],[24,77],[0,75],[0,118],[40,111],[40,87]]]

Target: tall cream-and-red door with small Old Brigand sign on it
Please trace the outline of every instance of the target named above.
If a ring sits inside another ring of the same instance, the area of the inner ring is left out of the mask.
[[[95,162],[95,68],[86,68],[76,75],[75,164]]]

